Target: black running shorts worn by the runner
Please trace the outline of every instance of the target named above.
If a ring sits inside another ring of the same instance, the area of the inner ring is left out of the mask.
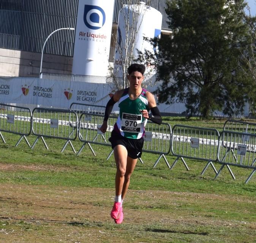
[[[121,134],[117,133],[117,131],[113,130],[111,132],[111,137],[109,138],[109,142],[111,142],[112,148],[116,145],[123,145],[127,152],[128,156],[132,159],[141,158],[142,155],[142,147],[144,143],[143,137],[140,139],[130,139],[123,137]]]

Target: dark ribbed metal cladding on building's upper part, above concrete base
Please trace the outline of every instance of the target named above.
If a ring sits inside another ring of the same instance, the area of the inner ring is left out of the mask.
[[[128,1],[115,0],[113,22],[118,21],[122,4]],[[144,2],[163,14],[162,28],[170,29],[164,11],[166,0]],[[0,0],[0,48],[41,52],[54,30],[76,27],[77,5],[78,0]],[[51,36],[44,53],[72,57],[73,44],[74,31],[60,30]]]

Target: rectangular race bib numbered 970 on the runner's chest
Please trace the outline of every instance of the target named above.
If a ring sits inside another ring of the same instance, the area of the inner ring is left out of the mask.
[[[127,133],[141,133],[142,114],[134,115],[123,113],[121,121],[121,131]]]

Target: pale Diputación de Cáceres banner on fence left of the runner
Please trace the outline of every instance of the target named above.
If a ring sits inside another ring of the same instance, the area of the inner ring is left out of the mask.
[[[72,103],[106,106],[108,84],[39,78],[0,78],[0,103],[37,104],[69,109]]]

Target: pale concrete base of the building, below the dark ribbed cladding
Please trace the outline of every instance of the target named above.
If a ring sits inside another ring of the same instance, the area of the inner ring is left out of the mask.
[[[0,48],[0,76],[38,77],[41,53]],[[72,57],[43,55],[42,73],[71,74]]]

